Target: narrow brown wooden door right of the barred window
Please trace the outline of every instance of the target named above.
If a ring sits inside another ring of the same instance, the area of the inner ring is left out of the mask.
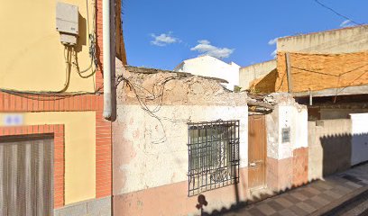
[[[248,119],[248,184],[249,188],[265,185],[266,178],[266,124],[264,115]]]

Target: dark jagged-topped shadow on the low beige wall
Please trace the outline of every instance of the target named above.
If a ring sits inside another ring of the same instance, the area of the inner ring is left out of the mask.
[[[320,137],[323,149],[322,175],[327,176],[344,171],[351,166],[351,134],[337,134]]]

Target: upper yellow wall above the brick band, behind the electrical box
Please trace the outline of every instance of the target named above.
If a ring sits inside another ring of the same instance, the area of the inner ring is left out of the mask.
[[[80,69],[84,69],[90,63],[87,4],[92,27],[95,1],[60,2],[78,5],[78,63]],[[34,91],[63,88],[66,64],[64,46],[60,43],[60,33],[56,31],[56,3],[56,0],[0,0],[0,87]],[[80,77],[73,67],[68,91],[94,91],[94,80],[94,76]]]

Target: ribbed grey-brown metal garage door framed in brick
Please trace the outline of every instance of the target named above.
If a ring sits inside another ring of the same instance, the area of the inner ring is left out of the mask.
[[[52,215],[53,139],[0,138],[0,215]]]

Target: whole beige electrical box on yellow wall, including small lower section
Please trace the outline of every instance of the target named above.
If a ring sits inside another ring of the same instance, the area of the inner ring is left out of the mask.
[[[58,2],[56,4],[56,30],[64,45],[76,45],[78,38],[78,6]]]

